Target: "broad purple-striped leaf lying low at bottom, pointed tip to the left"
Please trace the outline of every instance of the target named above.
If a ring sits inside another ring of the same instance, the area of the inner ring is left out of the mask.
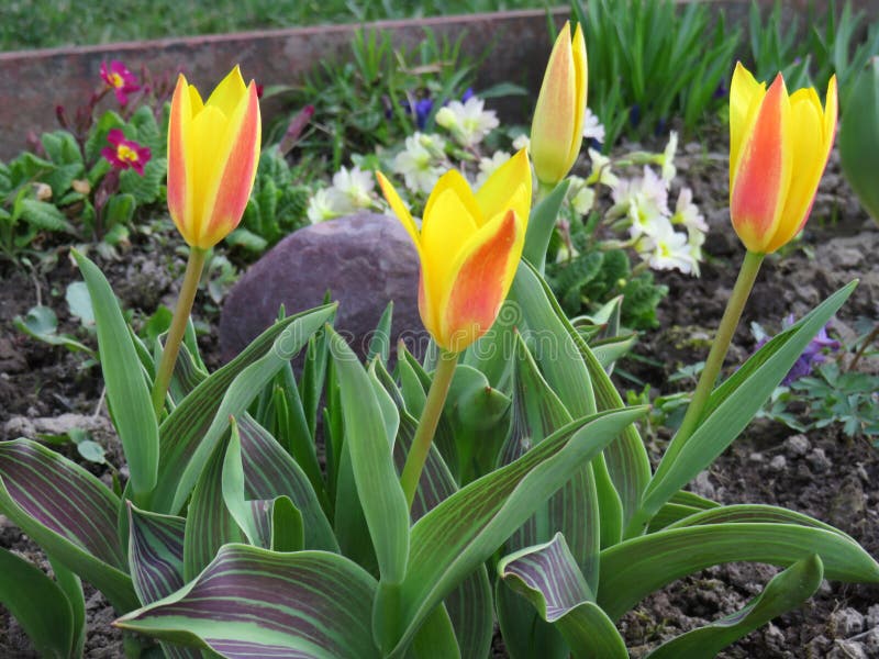
[[[193,581],[114,624],[230,659],[378,659],[376,585],[336,554],[226,545]]]

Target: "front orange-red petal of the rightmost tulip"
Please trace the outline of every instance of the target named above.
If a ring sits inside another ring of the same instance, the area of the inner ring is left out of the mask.
[[[791,180],[790,99],[779,75],[760,103],[747,134],[733,188],[730,211],[733,226],[745,246],[766,249],[776,233]]]

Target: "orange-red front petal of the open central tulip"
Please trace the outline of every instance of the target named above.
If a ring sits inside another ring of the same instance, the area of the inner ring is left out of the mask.
[[[455,259],[444,311],[441,347],[458,353],[488,332],[510,290],[525,232],[513,210],[482,226]]]

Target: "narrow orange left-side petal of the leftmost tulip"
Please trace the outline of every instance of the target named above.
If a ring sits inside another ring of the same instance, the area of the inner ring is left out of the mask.
[[[198,93],[198,92],[196,92]],[[199,98],[199,103],[201,99]],[[186,78],[180,75],[171,98],[170,121],[168,124],[168,211],[180,234],[190,242],[189,227],[185,219],[192,216],[192,176],[187,169],[191,165],[187,158],[187,134],[192,118],[192,98]]]

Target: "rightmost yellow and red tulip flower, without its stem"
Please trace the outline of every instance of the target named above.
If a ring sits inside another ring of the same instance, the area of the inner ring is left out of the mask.
[[[730,89],[730,214],[748,250],[770,254],[805,224],[836,133],[836,77],[788,96],[737,64]]]

